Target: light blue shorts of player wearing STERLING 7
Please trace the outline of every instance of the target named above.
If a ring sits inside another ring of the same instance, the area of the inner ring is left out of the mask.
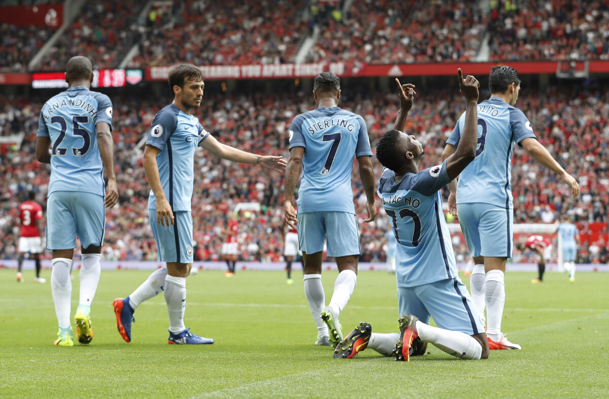
[[[307,254],[323,251],[328,237],[328,256],[359,255],[359,231],[354,214],[306,212],[298,214],[298,244]]]

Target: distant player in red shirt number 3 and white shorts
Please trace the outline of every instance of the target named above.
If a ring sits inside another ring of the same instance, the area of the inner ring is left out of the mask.
[[[36,193],[30,191],[27,194],[28,200],[19,204],[19,220],[21,221],[21,237],[19,237],[19,257],[17,266],[17,281],[23,282],[23,259],[25,254],[29,254],[30,259],[34,259],[36,264],[35,282],[45,282],[40,277],[40,254],[42,253],[42,237],[40,235],[39,220],[43,218],[42,207],[34,199]]]

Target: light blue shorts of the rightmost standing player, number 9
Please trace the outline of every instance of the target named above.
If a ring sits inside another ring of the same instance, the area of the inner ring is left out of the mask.
[[[513,209],[483,203],[457,204],[457,214],[471,256],[512,257]]]

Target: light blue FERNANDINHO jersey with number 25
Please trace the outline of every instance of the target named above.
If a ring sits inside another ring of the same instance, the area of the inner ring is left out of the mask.
[[[98,122],[107,122],[112,129],[112,102],[84,86],[70,87],[44,103],[37,137],[51,139],[49,194],[79,191],[105,196]]]

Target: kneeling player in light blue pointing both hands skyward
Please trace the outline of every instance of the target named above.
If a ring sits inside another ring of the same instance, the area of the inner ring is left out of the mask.
[[[400,334],[373,333],[370,324],[360,323],[337,345],[334,358],[353,358],[368,347],[385,356],[395,354],[398,361],[409,361],[411,355],[423,354],[426,342],[431,342],[457,358],[486,359],[487,336],[459,279],[439,192],[476,155],[479,84],[473,76],[463,79],[459,70],[459,86],[467,102],[459,146],[442,165],[419,171],[423,145],[403,132],[415,92],[412,85],[396,82],[400,113],[394,129],[385,133],[376,147],[376,157],[385,167],[378,195],[398,241]],[[428,325],[430,316],[438,327]]]

